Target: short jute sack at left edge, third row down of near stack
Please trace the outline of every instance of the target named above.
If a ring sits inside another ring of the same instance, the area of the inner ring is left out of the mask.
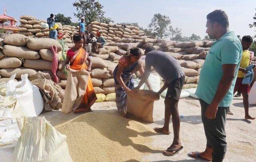
[[[6,57],[0,60],[0,68],[18,68],[21,64],[21,60],[16,57]]]

